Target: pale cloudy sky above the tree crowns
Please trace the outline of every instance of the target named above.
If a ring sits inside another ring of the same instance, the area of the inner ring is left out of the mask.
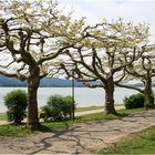
[[[126,22],[149,24],[151,42],[155,43],[155,0],[58,0],[73,18],[86,17],[89,24],[124,19]]]

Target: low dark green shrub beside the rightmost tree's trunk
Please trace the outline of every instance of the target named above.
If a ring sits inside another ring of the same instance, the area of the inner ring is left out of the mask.
[[[138,108],[144,107],[144,95],[141,93],[133,94],[130,97],[124,99],[125,108]]]

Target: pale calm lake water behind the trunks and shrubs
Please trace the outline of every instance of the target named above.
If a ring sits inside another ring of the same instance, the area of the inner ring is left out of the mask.
[[[0,87],[0,113],[6,112],[7,108],[3,104],[3,96],[12,90],[25,90],[27,87]],[[136,93],[134,90],[127,90],[122,87],[115,89],[115,104],[123,103],[125,96]],[[45,105],[46,100],[50,95],[71,95],[71,87],[40,87],[38,92],[39,107]],[[103,89],[89,89],[89,87],[75,87],[75,104],[78,107],[92,106],[92,105],[104,105],[105,93]]]

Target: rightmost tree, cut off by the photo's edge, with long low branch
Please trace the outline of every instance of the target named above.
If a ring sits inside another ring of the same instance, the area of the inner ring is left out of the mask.
[[[154,54],[154,45],[145,46],[145,52],[138,59],[138,61],[134,62],[132,65],[125,68],[126,71],[126,80],[137,79],[141,80],[144,84],[144,89],[126,85],[123,83],[117,83],[118,86],[133,89],[144,94],[144,106],[145,107],[154,107],[154,95],[152,91],[152,78],[155,76],[155,54]]]

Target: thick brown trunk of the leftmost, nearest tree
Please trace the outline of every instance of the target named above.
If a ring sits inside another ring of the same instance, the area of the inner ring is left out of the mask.
[[[27,126],[37,128],[39,126],[38,117],[38,87],[40,84],[39,69],[32,68],[28,79],[28,113]]]

